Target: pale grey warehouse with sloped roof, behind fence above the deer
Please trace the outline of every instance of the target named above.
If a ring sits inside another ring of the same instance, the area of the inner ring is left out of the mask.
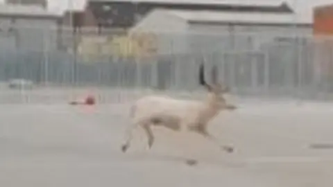
[[[253,51],[288,37],[309,36],[312,24],[295,22],[286,13],[154,10],[130,29],[137,32],[155,35],[160,53]]]

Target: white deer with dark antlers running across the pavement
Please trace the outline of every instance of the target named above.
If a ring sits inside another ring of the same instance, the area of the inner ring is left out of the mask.
[[[208,93],[205,100],[179,100],[169,96],[145,96],[140,98],[131,107],[130,117],[133,122],[126,132],[127,139],[121,150],[126,152],[130,147],[133,131],[142,127],[148,137],[148,148],[154,143],[152,126],[162,126],[175,132],[186,130],[196,132],[206,139],[217,143],[216,138],[207,132],[208,123],[216,117],[221,110],[236,109],[228,105],[223,94],[228,92],[227,87],[222,87],[216,82],[217,71],[212,69],[212,84],[207,84],[204,78],[204,66],[200,65],[199,79]],[[228,145],[219,145],[227,152],[233,152],[234,148]]]

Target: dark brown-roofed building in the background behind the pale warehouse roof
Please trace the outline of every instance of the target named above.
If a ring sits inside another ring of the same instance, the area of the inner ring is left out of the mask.
[[[151,10],[214,10],[232,12],[284,12],[291,8],[283,2],[234,3],[234,1],[184,0],[90,0],[86,12],[91,14],[89,25],[103,28],[130,28],[141,21]]]

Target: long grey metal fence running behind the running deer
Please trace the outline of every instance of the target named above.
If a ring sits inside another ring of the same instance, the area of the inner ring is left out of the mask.
[[[230,42],[230,38],[223,33],[200,33],[198,43],[193,40],[197,33],[153,33],[153,44],[157,50],[142,55],[133,53],[138,46],[133,50],[134,44],[130,44],[133,40],[126,32],[99,31],[87,29],[73,32],[65,29],[59,32],[50,28],[47,35],[36,36],[30,48],[26,48],[26,43],[24,48],[19,43],[15,48],[0,45],[3,90],[8,90],[8,81],[25,79],[34,82],[35,90],[85,90],[94,87],[95,90],[194,91],[200,89],[198,65],[205,62],[207,75],[210,68],[216,66],[219,80],[239,96],[324,99],[330,98],[333,91],[333,40],[329,37],[274,35],[271,41],[258,44],[253,40],[258,35],[242,33],[239,38],[244,39],[246,48],[225,48],[228,44],[223,44],[223,41]],[[119,46],[119,40],[114,42],[117,37],[121,37],[126,44]],[[127,40],[124,39],[126,37]],[[177,51],[173,45],[165,44],[168,42],[166,38],[172,37],[183,38],[183,47],[187,50]],[[237,35],[232,37],[237,38]],[[205,38],[210,41],[209,44],[203,42]],[[250,44],[249,38],[252,38]],[[22,37],[19,39],[24,41]],[[36,41],[38,39],[40,41]],[[84,41],[90,43],[84,44]],[[239,42],[241,39],[238,39]],[[34,44],[42,44],[42,47],[37,48]],[[162,45],[169,47],[169,53],[158,53],[158,47]],[[207,50],[208,46],[216,47]],[[130,52],[119,53],[121,47],[122,51]],[[17,91],[20,97],[22,93],[37,93],[28,89]],[[12,96],[12,91],[8,93]]]

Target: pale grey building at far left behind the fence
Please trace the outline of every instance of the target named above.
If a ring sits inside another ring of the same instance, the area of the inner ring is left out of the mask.
[[[0,6],[1,51],[57,49],[61,24],[61,15],[40,6]]]

